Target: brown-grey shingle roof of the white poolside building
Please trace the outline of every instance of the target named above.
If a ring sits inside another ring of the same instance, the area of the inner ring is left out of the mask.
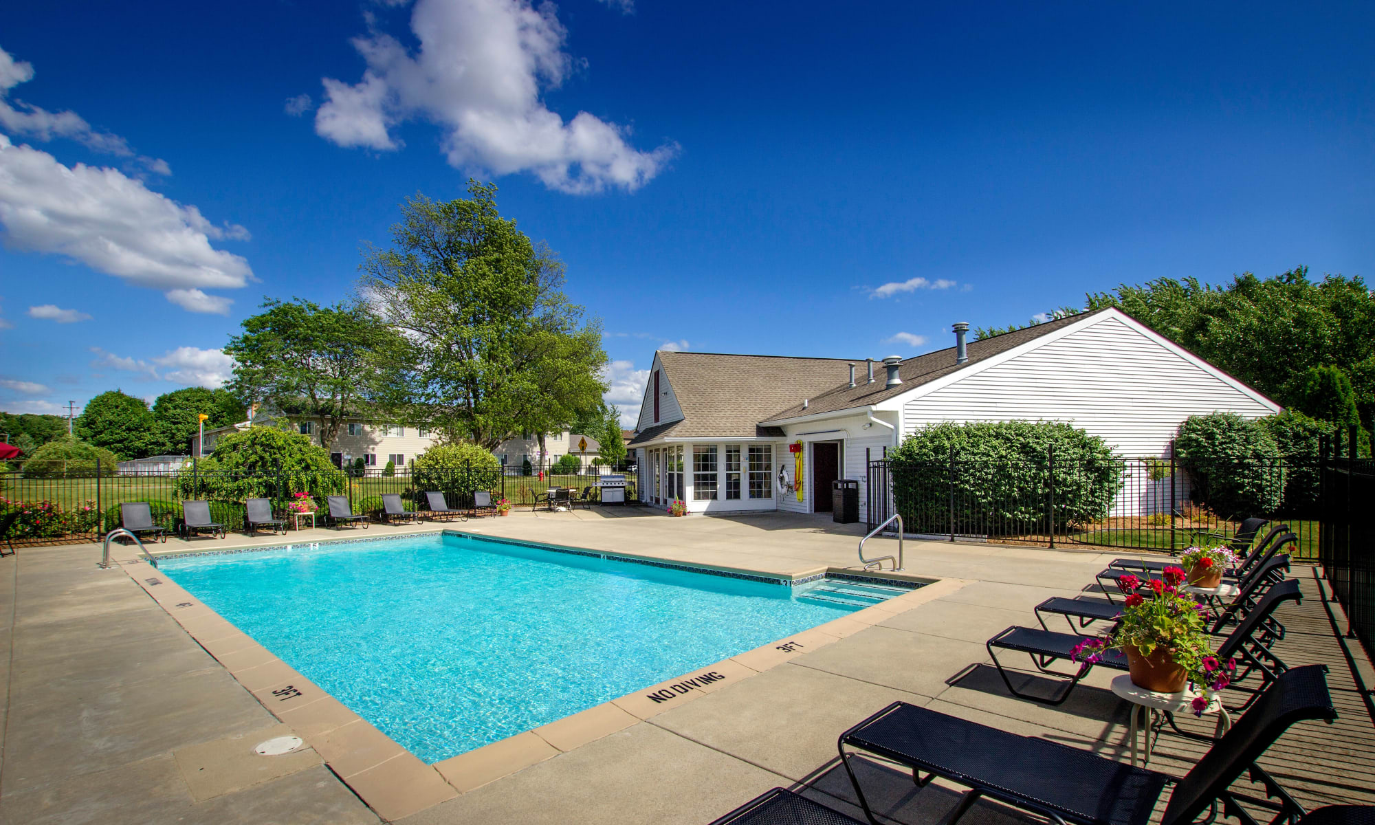
[[[874,364],[873,384],[865,384],[864,359],[660,352],[659,363],[674,388],[683,419],[648,428],[630,444],[660,437],[782,436],[782,429],[770,422],[877,404],[1094,314],[1081,312],[969,341],[969,360],[964,364],[954,363],[954,346],[910,358],[898,368],[902,384],[892,388],[884,385],[887,373],[880,363]],[[852,388],[848,385],[850,364],[855,364],[857,373]],[[807,408],[802,407],[804,399]]]

